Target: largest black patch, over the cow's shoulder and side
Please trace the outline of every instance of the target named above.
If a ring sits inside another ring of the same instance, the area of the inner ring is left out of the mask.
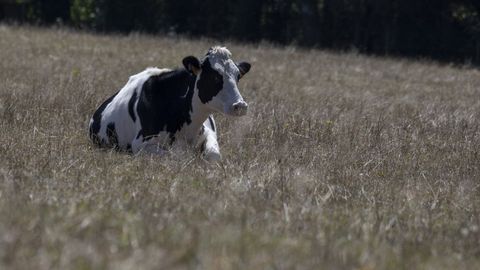
[[[137,134],[148,140],[161,131],[169,133],[170,142],[182,126],[192,122],[192,97],[196,76],[185,69],[151,76],[142,86],[137,113],[142,130]]]

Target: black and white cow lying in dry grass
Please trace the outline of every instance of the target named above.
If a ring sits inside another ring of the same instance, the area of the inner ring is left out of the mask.
[[[100,146],[134,154],[164,153],[175,141],[200,146],[207,160],[220,159],[212,113],[242,116],[248,105],[237,87],[250,64],[236,64],[224,47],[203,60],[183,59],[185,69],[147,68],[107,99],[90,120],[90,138]]]

